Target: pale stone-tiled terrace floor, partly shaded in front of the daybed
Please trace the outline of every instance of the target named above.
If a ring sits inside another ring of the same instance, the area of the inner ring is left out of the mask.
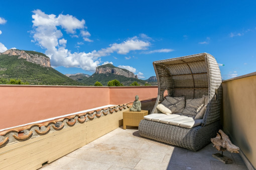
[[[214,157],[212,144],[194,152],[140,136],[138,127],[119,127],[40,168],[47,169],[247,169],[238,153],[224,164]]]

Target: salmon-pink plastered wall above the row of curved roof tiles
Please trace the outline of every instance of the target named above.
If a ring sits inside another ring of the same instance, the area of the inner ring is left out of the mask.
[[[157,86],[0,85],[0,129],[108,104],[156,97]]]

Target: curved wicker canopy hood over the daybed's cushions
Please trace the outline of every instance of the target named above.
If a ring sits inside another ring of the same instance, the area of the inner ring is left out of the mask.
[[[222,80],[218,63],[212,55],[199,53],[154,61],[153,65],[158,79],[158,99],[152,113],[159,112],[156,106],[164,100],[167,90],[169,96],[185,96],[186,99],[208,95],[209,104],[203,124],[220,118]]]

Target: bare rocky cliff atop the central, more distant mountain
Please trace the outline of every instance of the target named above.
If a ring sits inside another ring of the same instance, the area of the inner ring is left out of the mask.
[[[112,64],[105,64],[105,65],[100,65],[100,66],[96,67],[95,73],[96,74],[113,73],[113,74],[117,74],[117,75],[123,75],[126,77],[138,78],[138,76],[135,75],[133,72],[131,72],[127,69],[116,67]]]

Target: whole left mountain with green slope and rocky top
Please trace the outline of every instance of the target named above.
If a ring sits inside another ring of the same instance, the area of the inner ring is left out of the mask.
[[[19,55],[19,52],[22,54]],[[44,55],[25,50],[9,50],[6,53],[0,53],[0,79],[2,82],[21,79],[30,84],[42,85],[84,85],[49,67],[50,58]]]

